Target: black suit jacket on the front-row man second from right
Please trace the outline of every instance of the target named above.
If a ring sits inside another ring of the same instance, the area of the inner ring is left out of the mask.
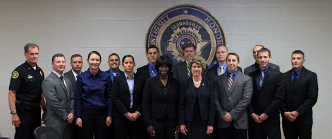
[[[248,106],[248,113],[249,115],[251,113],[257,115],[266,113],[268,119],[262,122],[262,124],[279,125],[279,109],[284,101],[282,81],[280,80],[282,73],[273,68],[268,68],[261,88],[259,87],[259,75],[261,75],[259,69],[249,73],[249,76],[252,77],[254,92]]]

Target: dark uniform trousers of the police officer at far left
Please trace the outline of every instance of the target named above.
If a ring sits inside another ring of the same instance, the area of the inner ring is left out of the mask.
[[[19,115],[19,127],[15,127],[15,139],[33,139],[35,138],[33,131],[37,129],[37,127],[42,126],[42,118],[41,118],[40,107],[36,109],[25,109],[21,108],[17,113]]]

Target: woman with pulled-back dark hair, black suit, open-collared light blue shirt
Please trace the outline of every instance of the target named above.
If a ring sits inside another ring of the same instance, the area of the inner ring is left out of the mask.
[[[143,130],[142,93],[145,83],[142,77],[133,73],[133,56],[124,55],[122,66],[124,74],[113,78],[111,89],[116,139],[139,139]]]

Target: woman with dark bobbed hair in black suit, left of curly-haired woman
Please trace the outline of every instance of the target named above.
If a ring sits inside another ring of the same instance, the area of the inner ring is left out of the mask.
[[[166,55],[156,61],[158,76],[147,80],[143,93],[144,122],[151,138],[174,139],[177,125],[178,80],[172,75],[172,59]]]

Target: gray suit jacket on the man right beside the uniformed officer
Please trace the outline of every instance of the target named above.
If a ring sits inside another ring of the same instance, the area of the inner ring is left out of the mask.
[[[64,77],[66,86],[53,72],[42,82],[46,100],[45,123],[51,127],[64,127],[69,113],[74,113],[74,93],[71,81]]]

